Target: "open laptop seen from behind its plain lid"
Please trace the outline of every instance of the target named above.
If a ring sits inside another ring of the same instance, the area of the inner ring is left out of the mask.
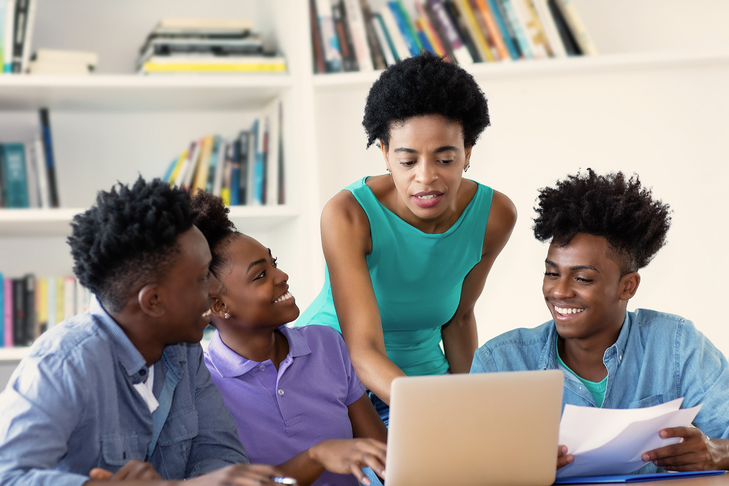
[[[386,486],[547,486],[555,479],[559,370],[398,377]]]

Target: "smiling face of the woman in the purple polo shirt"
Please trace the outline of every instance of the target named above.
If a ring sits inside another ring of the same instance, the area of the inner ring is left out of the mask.
[[[217,299],[231,318],[223,325],[276,328],[299,316],[286,283],[289,275],[278,269],[268,248],[247,235],[235,235],[226,251],[231,270],[221,275],[227,291]]]

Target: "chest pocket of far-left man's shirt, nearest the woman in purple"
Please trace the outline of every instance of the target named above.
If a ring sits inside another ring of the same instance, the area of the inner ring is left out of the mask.
[[[192,439],[198,436],[198,411],[194,408],[170,412],[160,431],[152,460],[164,471],[165,479],[185,477]]]

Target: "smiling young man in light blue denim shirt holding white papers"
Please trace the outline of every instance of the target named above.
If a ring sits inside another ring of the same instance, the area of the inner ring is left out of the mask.
[[[679,444],[644,452],[640,472],[729,469],[729,368],[691,321],[627,312],[638,270],[665,244],[668,205],[638,176],[590,169],[539,194],[534,235],[550,242],[542,284],[553,320],[514,329],[476,350],[471,372],[561,369],[564,404],[638,408],[684,397],[703,404],[693,427],[666,428]],[[561,447],[558,466],[572,462]]]

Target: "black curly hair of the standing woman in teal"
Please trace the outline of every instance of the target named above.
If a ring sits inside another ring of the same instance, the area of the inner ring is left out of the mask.
[[[423,51],[389,66],[370,88],[362,119],[367,147],[378,139],[388,146],[393,123],[425,114],[459,122],[467,147],[491,123],[486,97],[471,74]]]

